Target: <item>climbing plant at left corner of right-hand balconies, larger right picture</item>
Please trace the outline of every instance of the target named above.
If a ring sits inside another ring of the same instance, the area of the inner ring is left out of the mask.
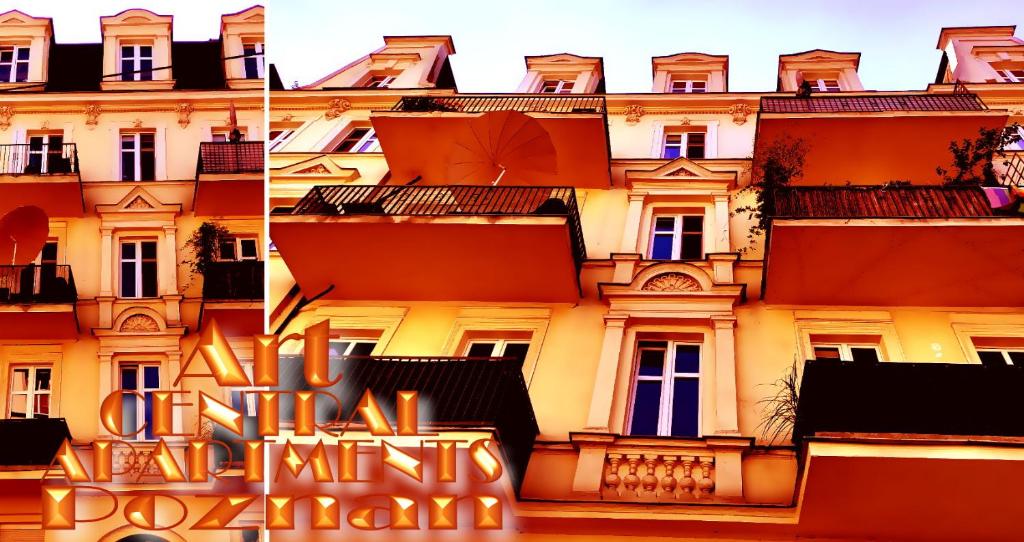
[[[787,186],[790,180],[803,174],[806,155],[807,143],[804,139],[788,135],[774,139],[771,144],[754,155],[751,184],[739,193],[753,192],[755,203],[737,207],[734,211],[746,214],[749,219],[755,220],[746,236],[752,244],[755,238],[764,235],[771,224],[775,209],[775,191]]]

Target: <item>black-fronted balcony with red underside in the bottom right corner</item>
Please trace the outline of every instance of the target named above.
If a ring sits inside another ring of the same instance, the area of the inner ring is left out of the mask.
[[[807,362],[795,429],[799,534],[1017,538],[1021,389],[1024,371],[1014,367]]]

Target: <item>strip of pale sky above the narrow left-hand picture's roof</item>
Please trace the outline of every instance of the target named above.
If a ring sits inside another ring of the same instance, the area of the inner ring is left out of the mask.
[[[57,43],[99,43],[99,17],[142,7],[174,15],[175,40],[205,41],[220,35],[220,15],[255,4],[266,5],[262,0],[0,0],[0,12],[52,17]]]

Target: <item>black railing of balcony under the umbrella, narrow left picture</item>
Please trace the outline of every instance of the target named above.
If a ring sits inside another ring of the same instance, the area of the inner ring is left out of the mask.
[[[71,265],[0,265],[0,304],[74,303]]]

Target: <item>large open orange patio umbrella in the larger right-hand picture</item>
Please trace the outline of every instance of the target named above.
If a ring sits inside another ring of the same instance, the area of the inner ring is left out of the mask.
[[[456,139],[449,162],[453,182],[537,184],[539,174],[558,172],[551,135],[522,113],[484,113],[466,123]]]

